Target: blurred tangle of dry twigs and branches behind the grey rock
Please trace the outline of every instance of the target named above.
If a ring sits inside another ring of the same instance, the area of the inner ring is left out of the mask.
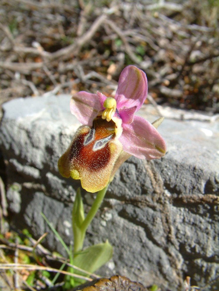
[[[219,1],[133,2],[1,0],[1,103],[46,92],[108,96],[134,64],[158,104],[218,113]]]

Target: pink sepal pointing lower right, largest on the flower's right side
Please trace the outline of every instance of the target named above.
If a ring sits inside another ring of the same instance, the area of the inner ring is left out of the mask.
[[[123,151],[140,159],[158,159],[166,152],[166,144],[153,125],[143,117],[134,115],[131,124],[123,125],[119,141]]]

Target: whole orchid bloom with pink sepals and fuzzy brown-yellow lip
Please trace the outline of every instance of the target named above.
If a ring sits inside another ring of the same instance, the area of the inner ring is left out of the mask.
[[[88,192],[107,186],[130,155],[158,159],[166,152],[155,126],[135,113],[148,92],[146,74],[133,65],[119,78],[115,98],[81,91],[71,98],[71,113],[82,123],[58,161],[63,177],[81,179]]]

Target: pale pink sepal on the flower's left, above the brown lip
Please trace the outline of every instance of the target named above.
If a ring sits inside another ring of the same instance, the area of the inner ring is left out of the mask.
[[[80,91],[71,97],[70,109],[83,125],[91,126],[101,105],[96,94]]]

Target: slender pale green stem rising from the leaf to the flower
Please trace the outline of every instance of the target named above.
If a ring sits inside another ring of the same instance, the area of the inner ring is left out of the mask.
[[[109,184],[108,184],[109,185]],[[96,215],[99,207],[101,206],[101,203],[103,201],[103,198],[106,194],[108,185],[103,188],[102,190],[98,191],[96,199],[93,202],[93,205],[91,206],[90,211],[88,212],[86,218],[84,219],[83,223],[80,226],[80,230],[78,229],[78,232],[76,236],[74,236],[74,253],[75,255],[80,252],[83,248],[83,242],[86,230],[88,226],[90,225],[91,221],[93,220],[94,216]]]

